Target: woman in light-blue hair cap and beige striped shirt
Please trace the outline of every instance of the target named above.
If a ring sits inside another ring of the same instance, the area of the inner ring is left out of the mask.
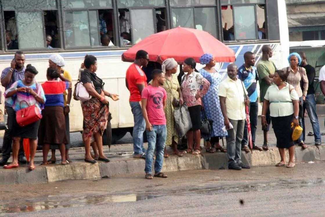
[[[303,103],[306,100],[307,90],[308,90],[308,78],[306,74],[306,70],[303,67],[300,67],[301,57],[298,53],[291,53],[288,57],[288,61],[290,66],[283,68],[285,72],[287,72],[288,78],[287,83],[291,84],[294,89],[297,91],[299,96],[299,125],[302,125],[302,116],[303,116]],[[299,145],[302,146],[303,149],[307,148],[303,141],[303,135],[300,136]]]

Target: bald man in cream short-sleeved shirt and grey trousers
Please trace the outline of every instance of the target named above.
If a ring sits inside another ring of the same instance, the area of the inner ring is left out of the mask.
[[[250,169],[250,166],[241,162],[241,141],[246,118],[245,104],[249,105],[250,100],[242,81],[237,78],[237,72],[237,65],[229,64],[228,77],[219,86],[220,107],[228,132],[226,141],[228,169],[230,170]]]

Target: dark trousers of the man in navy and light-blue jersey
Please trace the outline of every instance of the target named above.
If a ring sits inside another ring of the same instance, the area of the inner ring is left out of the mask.
[[[249,120],[251,122],[251,133],[252,133],[252,142],[253,147],[255,146],[255,134],[257,129],[257,115],[258,115],[258,102],[251,102],[249,107]],[[248,131],[247,131],[247,123],[245,120],[244,126],[244,136],[241,141],[241,147],[248,144]]]

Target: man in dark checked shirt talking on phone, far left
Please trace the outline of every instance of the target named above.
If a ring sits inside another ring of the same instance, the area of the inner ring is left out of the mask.
[[[10,67],[5,68],[1,74],[1,85],[5,87],[5,89],[10,88],[10,86],[19,80],[24,79],[25,75],[25,54],[22,51],[17,51],[15,53],[14,59],[10,63]],[[5,102],[5,109],[8,114],[7,124],[8,129],[5,130],[5,135],[2,143],[2,159],[0,160],[0,166],[3,166],[7,163],[10,152],[11,152],[11,144],[12,144],[12,136],[11,129],[16,118],[16,113],[12,107],[8,103]],[[24,150],[22,146],[19,149],[19,163],[25,164],[27,163],[26,158],[24,156]]]

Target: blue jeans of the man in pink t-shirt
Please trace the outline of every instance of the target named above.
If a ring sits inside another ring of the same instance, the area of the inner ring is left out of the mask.
[[[155,173],[159,173],[162,170],[167,128],[166,125],[152,125],[152,130],[147,130],[146,132],[148,139],[148,150],[146,155],[146,167],[144,171],[146,174],[152,173],[153,152],[156,149]]]

